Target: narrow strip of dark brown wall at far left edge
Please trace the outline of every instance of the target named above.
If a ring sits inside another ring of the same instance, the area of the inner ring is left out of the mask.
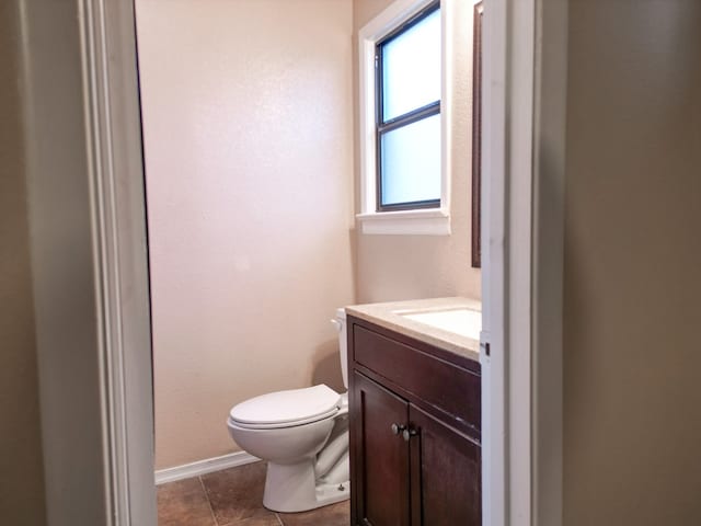
[[[34,305],[30,268],[20,35],[15,2],[0,4],[0,517],[45,524]]]

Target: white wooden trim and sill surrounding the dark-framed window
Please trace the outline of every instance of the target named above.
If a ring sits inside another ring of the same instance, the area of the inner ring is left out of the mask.
[[[359,64],[359,145],[360,214],[356,219],[363,233],[450,235],[450,180],[452,90],[446,79],[452,77],[452,31],[448,22],[451,2],[440,3],[440,206],[413,210],[377,211],[377,142],[375,54],[377,43],[428,7],[433,0],[397,0],[358,32]]]

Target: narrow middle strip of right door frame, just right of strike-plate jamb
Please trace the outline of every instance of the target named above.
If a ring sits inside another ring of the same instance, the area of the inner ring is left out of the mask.
[[[532,247],[533,89],[536,0],[515,0],[507,18],[508,184],[507,186],[507,523],[531,524],[531,398],[533,352]],[[537,523],[535,523],[537,524]]]

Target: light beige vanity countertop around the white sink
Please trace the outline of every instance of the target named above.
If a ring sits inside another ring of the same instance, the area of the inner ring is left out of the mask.
[[[455,297],[352,305],[345,308],[347,315],[479,362],[480,342],[478,340],[402,316],[402,313],[457,309],[482,312],[482,302],[474,299]]]

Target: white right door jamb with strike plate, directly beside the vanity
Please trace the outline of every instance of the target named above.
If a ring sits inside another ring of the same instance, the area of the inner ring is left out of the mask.
[[[482,93],[482,524],[508,524],[506,195],[508,1],[483,14]],[[486,354],[489,343],[490,355]]]

